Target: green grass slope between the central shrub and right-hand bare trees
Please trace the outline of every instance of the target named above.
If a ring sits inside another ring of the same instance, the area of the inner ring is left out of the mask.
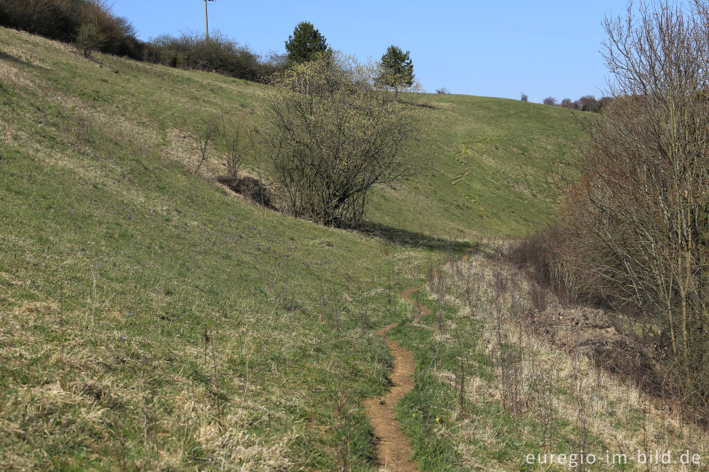
[[[555,216],[554,172],[574,165],[582,138],[564,108],[462,95],[430,96],[420,138],[426,171],[383,192],[370,216],[447,235],[523,235]]]

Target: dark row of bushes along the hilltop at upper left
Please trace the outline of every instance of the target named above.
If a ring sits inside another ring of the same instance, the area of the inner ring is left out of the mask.
[[[105,0],[2,0],[0,26],[65,43],[82,43],[89,31],[91,50],[238,79],[259,80],[282,70],[285,64],[284,57],[274,55],[263,60],[247,47],[218,34],[209,40],[198,35],[138,40],[133,25],[114,15]],[[86,52],[85,44],[79,46]]]

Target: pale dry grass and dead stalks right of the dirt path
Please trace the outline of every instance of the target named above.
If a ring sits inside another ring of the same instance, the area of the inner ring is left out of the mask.
[[[633,342],[615,329],[620,320],[603,310],[562,302],[500,257],[509,248],[509,242],[481,245],[468,259],[443,266],[440,279],[428,286],[436,299],[457,298],[459,319],[479,323],[481,336],[462,359],[474,359],[476,352],[492,359],[494,376],[476,375],[474,369],[469,374],[464,383],[467,404],[491,401],[522,424],[532,420],[526,429],[511,429],[519,444],[534,445],[534,454],[559,451],[561,444],[566,454],[608,449],[630,457],[638,450],[689,449],[705,457],[709,434],[685,421],[676,399],[637,388],[635,376],[643,370],[632,365],[632,356],[640,351],[620,348]],[[457,342],[457,323],[442,325],[440,342]],[[623,359],[626,355],[630,359]],[[459,372],[440,370],[437,375],[460,388]],[[456,410],[449,433],[464,461],[481,463],[481,457],[499,447],[504,429],[475,408]],[[493,462],[485,468],[509,470],[511,465]],[[629,461],[622,468],[644,466]]]

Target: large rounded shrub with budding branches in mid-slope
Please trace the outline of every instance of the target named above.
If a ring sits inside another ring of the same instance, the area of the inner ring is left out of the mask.
[[[279,208],[325,225],[356,223],[380,185],[411,176],[423,107],[374,86],[375,67],[337,55],[293,65],[264,95],[264,141]]]

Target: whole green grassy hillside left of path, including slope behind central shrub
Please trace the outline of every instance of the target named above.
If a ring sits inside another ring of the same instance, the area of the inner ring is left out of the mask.
[[[318,227],[188,170],[200,121],[258,127],[261,90],[0,28],[0,468],[372,470],[396,293],[553,216],[572,161],[568,111],[432,96],[428,169],[372,204],[383,237]],[[439,446],[415,454],[464,468]]]

